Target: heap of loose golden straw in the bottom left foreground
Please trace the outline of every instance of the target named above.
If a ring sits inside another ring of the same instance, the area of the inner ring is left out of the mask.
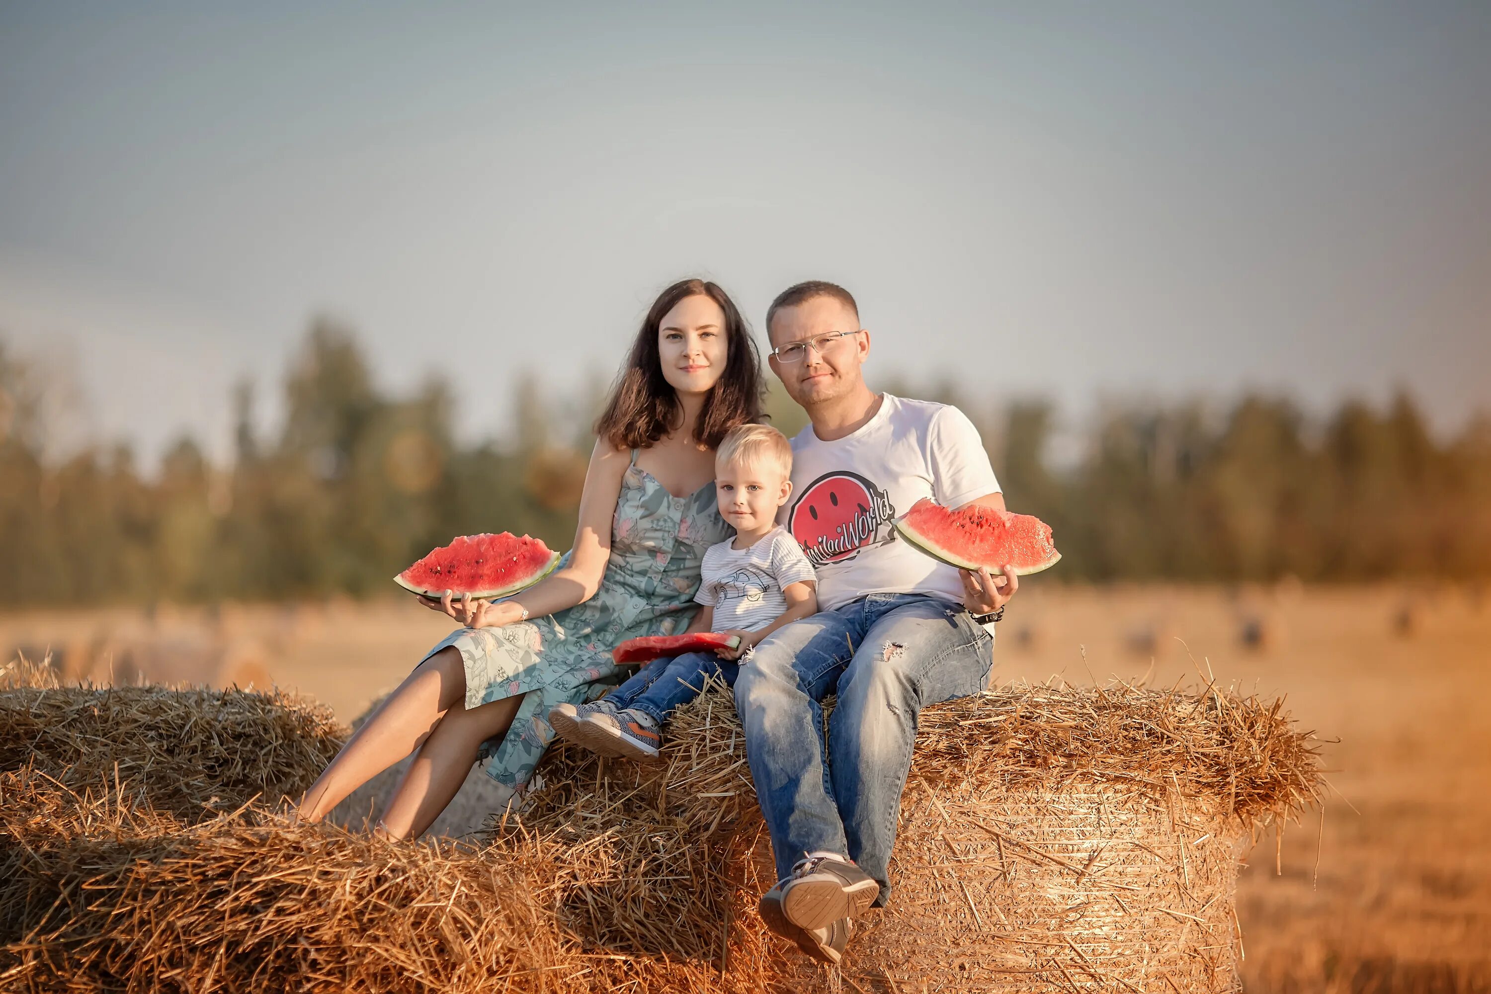
[[[555,924],[555,866],[538,841],[486,858],[262,809],[189,826],[10,772],[0,976],[7,991],[589,990],[559,982],[587,964]]]

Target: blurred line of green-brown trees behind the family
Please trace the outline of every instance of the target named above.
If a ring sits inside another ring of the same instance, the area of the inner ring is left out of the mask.
[[[180,440],[154,477],[127,446],[48,458],[46,383],[0,340],[0,604],[277,599],[391,593],[453,535],[511,531],[567,548],[604,384],[556,404],[513,384],[508,437],[459,444],[452,396],[382,392],[353,334],[318,320],[285,379],[277,438],[234,393],[236,452]],[[1436,441],[1408,396],[1312,423],[1287,399],[1106,410],[1053,466],[1056,410],[992,408],[953,387],[1009,507],[1056,529],[1065,580],[1372,580],[1491,574],[1491,422]],[[802,411],[768,398],[795,432]],[[556,425],[570,425],[568,431]]]

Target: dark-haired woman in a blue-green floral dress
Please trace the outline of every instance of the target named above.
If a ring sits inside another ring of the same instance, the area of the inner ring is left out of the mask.
[[[614,683],[617,642],[687,626],[704,550],[729,535],[714,501],[714,449],[759,420],[760,396],[756,346],[725,291],[704,280],[665,289],[596,423],[574,548],[546,580],[497,604],[420,598],[465,627],[356,730],[306,791],[300,817],[324,818],[410,753],[379,823],[388,836],[425,832],[468,772],[483,815],[505,805],[553,739],[550,708]]]

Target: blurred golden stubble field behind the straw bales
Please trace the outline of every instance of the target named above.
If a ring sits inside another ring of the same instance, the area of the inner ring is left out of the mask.
[[[341,720],[449,621],[376,604],[0,614],[0,651],[72,677],[264,686]],[[1270,833],[1238,914],[1249,991],[1491,991],[1491,596],[1475,589],[1060,587],[999,626],[996,678],[1269,696],[1327,742],[1336,794]],[[1276,867],[1282,873],[1276,873]]]

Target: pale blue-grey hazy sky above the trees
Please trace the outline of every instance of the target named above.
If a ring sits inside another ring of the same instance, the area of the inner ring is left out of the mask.
[[[148,456],[316,311],[482,437],[686,274],[1074,422],[1491,393],[1487,3],[304,7],[0,4],[0,331]]]

